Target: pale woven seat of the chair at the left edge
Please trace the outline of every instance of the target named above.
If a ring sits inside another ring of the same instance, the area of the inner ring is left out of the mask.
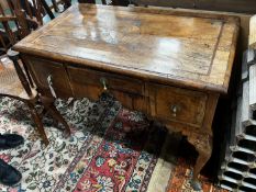
[[[33,95],[36,95],[36,90],[32,89]],[[0,70],[0,94],[8,94],[12,97],[19,97],[24,100],[29,100],[15,69]]]

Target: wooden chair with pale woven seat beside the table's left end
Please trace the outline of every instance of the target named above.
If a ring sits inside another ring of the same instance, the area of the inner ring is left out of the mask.
[[[69,126],[62,117],[59,112],[56,110],[54,104],[43,105],[41,103],[40,95],[25,67],[26,65],[22,63],[21,58],[19,57],[19,53],[9,49],[8,57],[13,61],[14,69],[8,68],[0,70],[0,97],[16,99],[24,102],[29,106],[32,118],[34,120],[37,131],[45,145],[48,145],[49,142],[44,132],[42,114],[45,114],[47,112],[51,113],[53,117],[57,118],[65,126],[65,128],[62,129],[65,132],[65,136],[70,135]],[[36,104],[41,104],[42,106],[44,106],[44,111],[42,114],[36,111]]]

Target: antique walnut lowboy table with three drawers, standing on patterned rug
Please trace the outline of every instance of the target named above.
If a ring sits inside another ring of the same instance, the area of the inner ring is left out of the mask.
[[[14,46],[48,104],[57,98],[122,104],[181,132],[199,153],[197,178],[212,153],[212,120],[227,91],[237,18],[153,8],[75,4]]]

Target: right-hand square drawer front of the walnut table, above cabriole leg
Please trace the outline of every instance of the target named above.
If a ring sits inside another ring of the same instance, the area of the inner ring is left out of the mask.
[[[205,111],[207,94],[168,86],[151,86],[152,113],[165,121],[200,127]]]

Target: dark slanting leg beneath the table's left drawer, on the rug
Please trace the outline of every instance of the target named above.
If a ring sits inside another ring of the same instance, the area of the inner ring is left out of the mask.
[[[71,131],[67,124],[67,122],[64,120],[64,117],[62,116],[62,114],[58,112],[58,110],[55,108],[54,105],[54,100],[49,99],[49,98],[41,98],[42,103],[44,105],[44,108],[47,110],[48,113],[51,113],[51,115],[57,120],[58,122],[60,122],[64,125],[64,136],[68,137],[71,134]]]

